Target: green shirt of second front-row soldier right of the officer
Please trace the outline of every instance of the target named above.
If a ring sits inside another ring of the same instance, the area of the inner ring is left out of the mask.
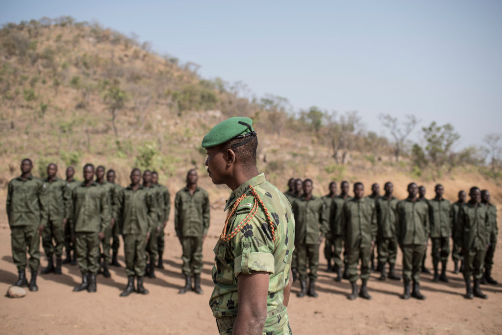
[[[376,236],[375,202],[371,198],[352,198],[342,210],[342,231],[345,248],[367,247]]]

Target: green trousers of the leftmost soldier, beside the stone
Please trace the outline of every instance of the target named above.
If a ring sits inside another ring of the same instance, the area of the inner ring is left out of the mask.
[[[40,265],[40,235],[37,227],[11,227],[12,259],[18,270],[26,268],[26,250],[30,255],[30,269],[37,270]]]

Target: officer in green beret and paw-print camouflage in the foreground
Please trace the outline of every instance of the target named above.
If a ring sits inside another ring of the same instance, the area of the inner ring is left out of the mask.
[[[232,117],[204,136],[213,184],[232,190],[214,247],[209,305],[220,334],[291,334],[287,305],[295,220],[279,189],[256,166],[253,121]]]

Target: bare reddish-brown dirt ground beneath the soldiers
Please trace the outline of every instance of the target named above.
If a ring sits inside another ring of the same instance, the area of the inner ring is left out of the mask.
[[[500,213],[500,209],[499,209]],[[209,236],[204,243],[204,294],[188,292],[178,294],[183,286],[181,275],[181,247],[174,236],[172,222],[166,227],[164,270],[157,271],[156,279],[146,279],[148,295],[131,294],[119,297],[126,285],[123,269],[111,267],[111,278],[98,276],[97,292],[72,292],[80,283],[78,267],[63,266],[61,275],[39,275],[38,292],[28,292],[21,299],[0,297],[0,333],[2,334],[216,334],[217,328],[209,309],[212,248],[224,219],[221,210],[212,211]],[[500,241],[500,240],[499,240]],[[502,282],[500,244],[495,253],[493,277]],[[123,251],[119,261],[123,264]],[[430,245],[428,266],[431,267]],[[449,262],[449,283],[433,283],[431,275],[422,276],[424,301],[399,298],[403,282],[381,282],[376,273],[368,282],[370,301],[358,298],[349,301],[349,283],[333,281],[327,273],[326,261],[321,256],[318,280],[318,298],[297,298],[298,283],[294,284],[288,307],[291,326],[295,334],[472,334],[502,333],[502,285],[483,285],[487,300],[463,298],[464,282],[460,274],[452,274]],[[47,261],[42,251],[41,266]],[[401,272],[401,254],[397,269]],[[0,291],[17,279],[12,262],[10,230],[4,211],[0,213]]]

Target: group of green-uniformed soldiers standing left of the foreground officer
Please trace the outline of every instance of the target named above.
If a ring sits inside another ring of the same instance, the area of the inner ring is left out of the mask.
[[[66,180],[57,177],[54,163],[47,166],[44,180],[33,177],[32,169],[31,159],[23,159],[21,176],[8,186],[6,209],[12,231],[13,260],[19,274],[15,285],[38,290],[41,236],[48,259],[41,273],[61,274],[61,264],[78,264],[82,283],[73,290],[95,292],[96,274],[109,278],[108,266],[120,266],[117,253],[121,235],[128,284],[120,295],[128,296],[134,291],[147,294],[143,277],[155,278],[155,267],[164,268],[164,228],[171,206],[170,193],[159,184],[158,174],[147,170],[142,175],[139,169],[133,169],[131,184],[122,188],[115,183],[115,172],[105,173],[102,165],[94,168],[93,164],[86,164],[83,182],[74,178],[72,167],[66,169]],[[174,228],[183,249],[182,271],[186,279],[180,293],[193,289],[201,294],[202,242],[209,228],[209,198],[197,186],[195,170],[188,172],[186,181],[186,187],[176,194],[174,201]],[[27,250],[29,283],[25,273]]]

